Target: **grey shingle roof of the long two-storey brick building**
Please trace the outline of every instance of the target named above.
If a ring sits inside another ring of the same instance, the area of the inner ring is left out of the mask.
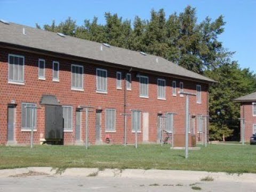
[[[26,35],[22,34],[23,28],[25,28]],[[196,74],[155,55],[142,55],[139,52],[115,46],[108,48],[102,46],[101,43],[70,36],[61,37],[57,35],[57,33],[22,26],[12,22],[10,25],[0,22],[0,43],[1,42],[98,61],[106,61],[118,65],[157,71],[165,74],[189,77],[207,83],[215,82],[210,78]],[[102,51],[101,46],[103,49]],[[156,62],[156,60],[158,60],[158,62]]]

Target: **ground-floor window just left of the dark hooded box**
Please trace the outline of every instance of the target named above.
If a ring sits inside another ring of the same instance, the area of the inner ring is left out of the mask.
[[[36,107],[36,104],[35,103],[21,103],[21,106],[22,106],[21,129],[31,130],[32,125],[33,125],[33,129],[36,131],[36,109],[26,108],[26,107]],[[32,118],[34,119],[34,121]]]

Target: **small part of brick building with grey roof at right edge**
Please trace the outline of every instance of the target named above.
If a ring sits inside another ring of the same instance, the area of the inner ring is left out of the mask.
[[[256,92],[235,99],[241,103],[240,118],[244,119],[244,140],[250,141],[252,134],[256,134]],[[242,127],[242,126],[241,126]],[[242,130],[241,140],[242,140]]]

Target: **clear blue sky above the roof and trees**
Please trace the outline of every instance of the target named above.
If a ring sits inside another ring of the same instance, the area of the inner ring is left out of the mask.
[[[150,18],[152,9],[164,9],[166,16],[182,12],[187,5],[196,7],[198,22],[207,16],[217,19],[225,17],[225,32],[219,39],[229,51],[235,51],[233,60],[241,68],[250,68],[256,73],[256,0],[0,0],[0,19],[35,27],[58,24],[68,17],[83,25],[84,19],[98,17],[105,23],[105,12],[117,13],[123,19],[133,21],[135,15]]]

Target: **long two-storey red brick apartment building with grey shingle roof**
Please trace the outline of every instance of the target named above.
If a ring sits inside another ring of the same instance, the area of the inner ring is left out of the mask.
[[[197,94],[190,98],[190,134],[200,140],[199,117],[208,114],[214,82],[155,55],[6,22],[0,22],[0,79],[0,142],[10,145],[29,144],[32,126],[34,143],[61,134],[46,132],[49,126],[62,126],[65,145],[84,143],[83,106],[92,107],[92,144],[106,135],[124,143],[124,113],[131,114],[127,143],[134,143],[135,129],[139,142],[159,142],[161,116],[167,131],[185,132],[180,90]]]

